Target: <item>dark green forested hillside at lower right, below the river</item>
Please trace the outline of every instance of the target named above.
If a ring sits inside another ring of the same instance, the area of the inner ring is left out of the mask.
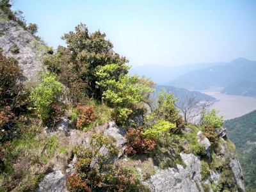
[[[227,120],[224,127],[228,137],[237,148],[239,161],[243,168],[244,183],[248,191],[256,189],[256,111],[239,118]]]

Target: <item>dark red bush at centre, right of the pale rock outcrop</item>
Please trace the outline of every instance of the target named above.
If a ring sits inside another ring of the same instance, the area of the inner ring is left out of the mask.
[[[153,137],[147,137],[138,130],[131,128],[125,134],[127,144],[125,147],[125,154],[145,154],[153,150],[156,146],[156,140]]]

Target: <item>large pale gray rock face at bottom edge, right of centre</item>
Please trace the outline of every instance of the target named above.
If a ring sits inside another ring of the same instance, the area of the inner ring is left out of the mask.
[[[200,185],[200,159],[193,154],[180,153],[186,168],[180,164],[177,168],[157,170],[145,183],[152,191],[202,191]],[[197,183],[197,184],[196,184]]]

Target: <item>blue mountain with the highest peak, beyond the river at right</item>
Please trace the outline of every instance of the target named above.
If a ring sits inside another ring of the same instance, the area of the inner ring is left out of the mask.
[[[255,72],[256,61],[239,58],[223,66],[212,66],[189,72],[170,81],[168,85],[189,90],[206,90],[211,86],[226,87],[243,80],[256,82]]]

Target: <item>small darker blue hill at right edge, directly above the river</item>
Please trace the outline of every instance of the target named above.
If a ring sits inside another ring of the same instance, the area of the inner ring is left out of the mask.
[[[237,81],[234,84],[230,84],[221,93],[228,95],[241,95],[246,97],[256,97],[256,83],[252,81]]]

